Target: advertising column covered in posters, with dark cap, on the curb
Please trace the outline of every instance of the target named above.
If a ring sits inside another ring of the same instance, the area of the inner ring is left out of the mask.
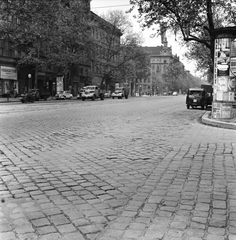
[[[213,118],[233,118],[235,79],[236,38],[229,29],[221,29],[215,38]]]

